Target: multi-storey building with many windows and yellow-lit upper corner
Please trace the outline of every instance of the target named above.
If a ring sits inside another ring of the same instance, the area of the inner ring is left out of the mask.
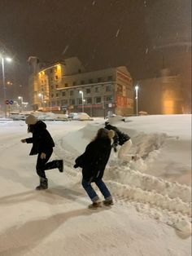
[[[85,72],[76,57],[40,68],[29,58],[33,109],[58,113],[85,112],[91,117],[133,114],[133,80],[126,67]]]

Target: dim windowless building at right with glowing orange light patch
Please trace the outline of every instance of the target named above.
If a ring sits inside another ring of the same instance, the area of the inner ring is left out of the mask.
[[[143,111],[155,114],[184,113],[182,78],[171,75],[167,68],[161,70],[159,77],[138,82],[138,113]]]

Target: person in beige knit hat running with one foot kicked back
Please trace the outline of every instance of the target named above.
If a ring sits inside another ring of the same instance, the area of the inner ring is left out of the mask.
[[[40,178],[40,184],[36,189],[46,189],[48,188],[48,179],[46,178],[45,170],[58,168],[60,172],[63,172],[63,160],[55,160],[47,163],[52,155],[55,143],[49,131],[46,130],[45,122],[38,121],[36,117],[29,115],[25,123],[28,125],[28,132],[31,132],[33,136],[31,138],[21,139],[21,142],[33,143],[29,155],[38,155],[36,170]]]

